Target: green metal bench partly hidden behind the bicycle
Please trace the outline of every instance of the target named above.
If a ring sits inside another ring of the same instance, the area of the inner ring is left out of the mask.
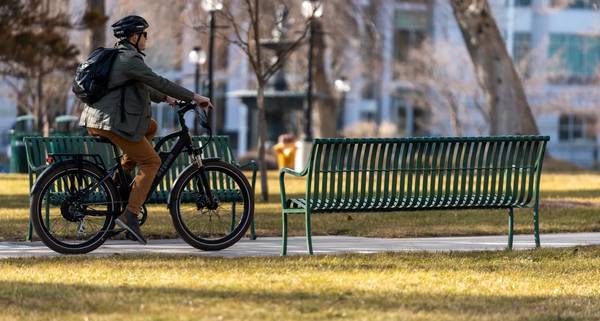
[[[160,138],[155,137],[156,144]],[[207,137],[194,136],[192,140],[195,145],[206,143]],[[23,138],[27,153],[27,164],[29,173],[29,188],[31,189],[35,183],[35,179],[48,167],[46,159],[48,154],[53,153],[77,153],[77,154],[98,154],[104,163],[104,166],[111,167],[116,164],[120,155],[115,155],[111,144],[98,142],[93,136],[55,136],[55,137],[25,137]],[[163,146],[161,151],[168,151],[176,140],[169,140]],[[229,137],[214,136],[213,141],[209,146],[204,148],[203,157],[215,158],[218,157],[230,164],[238,166],[242,170],[251,170],[251,185],[254,190],[256,183],[257,166],[254,161],[240,165],[236,162],[233,151],[229,147]],[[167,172],[162,182],[156,188],[147,203],[165,203],[171,191],[177,175],[181,173],[190,164],[190,159],[187,154],[181,154],[176,160],[171,169]],[[61,191],[56,191],[61,193]],[[32,224],[29,222],[29,230],[27,240],[32,238]],[[250,229],[250,237],[256,238],[254,221]]]

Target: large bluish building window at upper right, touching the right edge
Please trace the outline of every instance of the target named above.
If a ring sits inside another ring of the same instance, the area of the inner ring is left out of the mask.
[[[551,34],[549,55],[559,60],[552,82],[591,83],[600,61],[600,36]]]

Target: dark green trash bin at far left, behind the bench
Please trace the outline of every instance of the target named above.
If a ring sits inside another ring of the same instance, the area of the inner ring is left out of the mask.
[[[25,136],[40,136],[33,130],[35,117],[23,115],[16,119],[14,129],[10,131],[10,164],[11,173],[27,173],[27,153],[25,151]]]

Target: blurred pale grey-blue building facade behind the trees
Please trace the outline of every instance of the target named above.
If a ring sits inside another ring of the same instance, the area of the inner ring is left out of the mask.
[[[363,1],[365,6],[375,0]],[[515,63],[524,65],[522,72],[528,99],[540,132],[551,137],[549,153],[580,166],[592,167],[598,163],[598,104],[600,87],[597,84],[600,61],[600,12],[592,1],[577,0],[568,6],[558,6],[554,0],[489,0],[497,24],[505,37],[507,49]],[[561,2],[562,3],[562,2]],[[411,50],[429,42],[433,51],[457,48],[448,52],[450,62],[456,57],[468,58],[460,30],[446,0],[377,0],[375,24],[379,33],[380,60],[375,85],[360,75],[349,77],[352,90],[345,95],[340,120],[343,128],[361,123],[375,123],[394,128],[394,135],[450,135],[455,134],[447,115],[432,109],[427,103],[408,99],[419,91],[410,77],[396,72],[398,64],[408,61]],[[192,2],[175,11],[193,10]],[[71,2],[73,16],[81,15],[81,2]],[[154,57],[151,66],[161,74],[184,85],[195,87],[195,68],[188,53],[198,45],[206,49],[206,31],[194,29],[189,23],[167,30],[157,24],[164,20],[164,12],[137,12],[139,8],[123,7],[119,0],[107,1],[107,14],[112,20],[120,15],[138,13],[148,15],[154,28],[152,41],[163,41],[162,47],[149,53]],[[153,17],[153,15],[155,17]],[[110,22],[112,21],[109,21]],[[159,33],[170,32],[162,35]],[[110,31],[107,38],[110,40]],[[175,36],[174,36],[175,35]],[[73,32],[74,42],[86,37],[81,31]],[[163,37],[163,38],[159,38]],[[204,37],[204,38],[203,38]],[[166,39],[166,40],[163,40]],[[166,42],[164,42],[166,41]],[[239,98],[228,93],[253,88],[253,75],[244,54],[235,46],[217,49],[215,69],[215,100],[219,109],[216,116],[220,132],[230,135],[239,154],[251,146],[248,137],[249,111]],[[352,56],[350,54],[350,56]],[[360,55],[354,55],[360,57]],[[454,56],[454,57],[453,57]],[[360,58],[353,62],[360,64]],[[456,60],[458,61],[458,60]],[[472,73],[468,60],[458,66],[465,74]],[[200,66],[201,78],[206,78],[206,65]],[[350,70],[346,74],[352,74]],[[292,75],[302,79],[303,75]],[[472,76],[471,76],[472,77]],[[476,86],[476,83],[473,83]],[[202,84],[201,86],[202,87]],[[5,87],[0,89],[6,91]],[[3,91],[3,92],[4,92]],[[425,93],[427,94],[427,93]],[[467,109],[461,114],[477,114],[476,103],[464,100]],[[464,98],[464,99],[463,99]],[[432,100],[433,101],[433,100]],[[162,134],[176,126],[173,111],[166,105],[155,108],[155,118]],[[0,97],[0,143],[8,143],[7,132],[16,112],[8,94]],[[486,134],[481,117],[472,117],[463,124],[461,134]],[[435,121],[433,121],[435,119]],[[191,120],[190,120],[191,121]],[[483,128],[483,130],[482,130]],[[3,147],[5,149],[5,147]]]

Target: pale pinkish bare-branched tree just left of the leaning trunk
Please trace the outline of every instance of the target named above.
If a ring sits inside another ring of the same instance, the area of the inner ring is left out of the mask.
[[[427,106],[432,117],[426,126],[457,136],[467,127],[478,132],[489,128],[489,108],[468,64],[464,47],[439,40],[426,41],[395,66],[405,86],[413,89],[406,95],[408,102]]]

